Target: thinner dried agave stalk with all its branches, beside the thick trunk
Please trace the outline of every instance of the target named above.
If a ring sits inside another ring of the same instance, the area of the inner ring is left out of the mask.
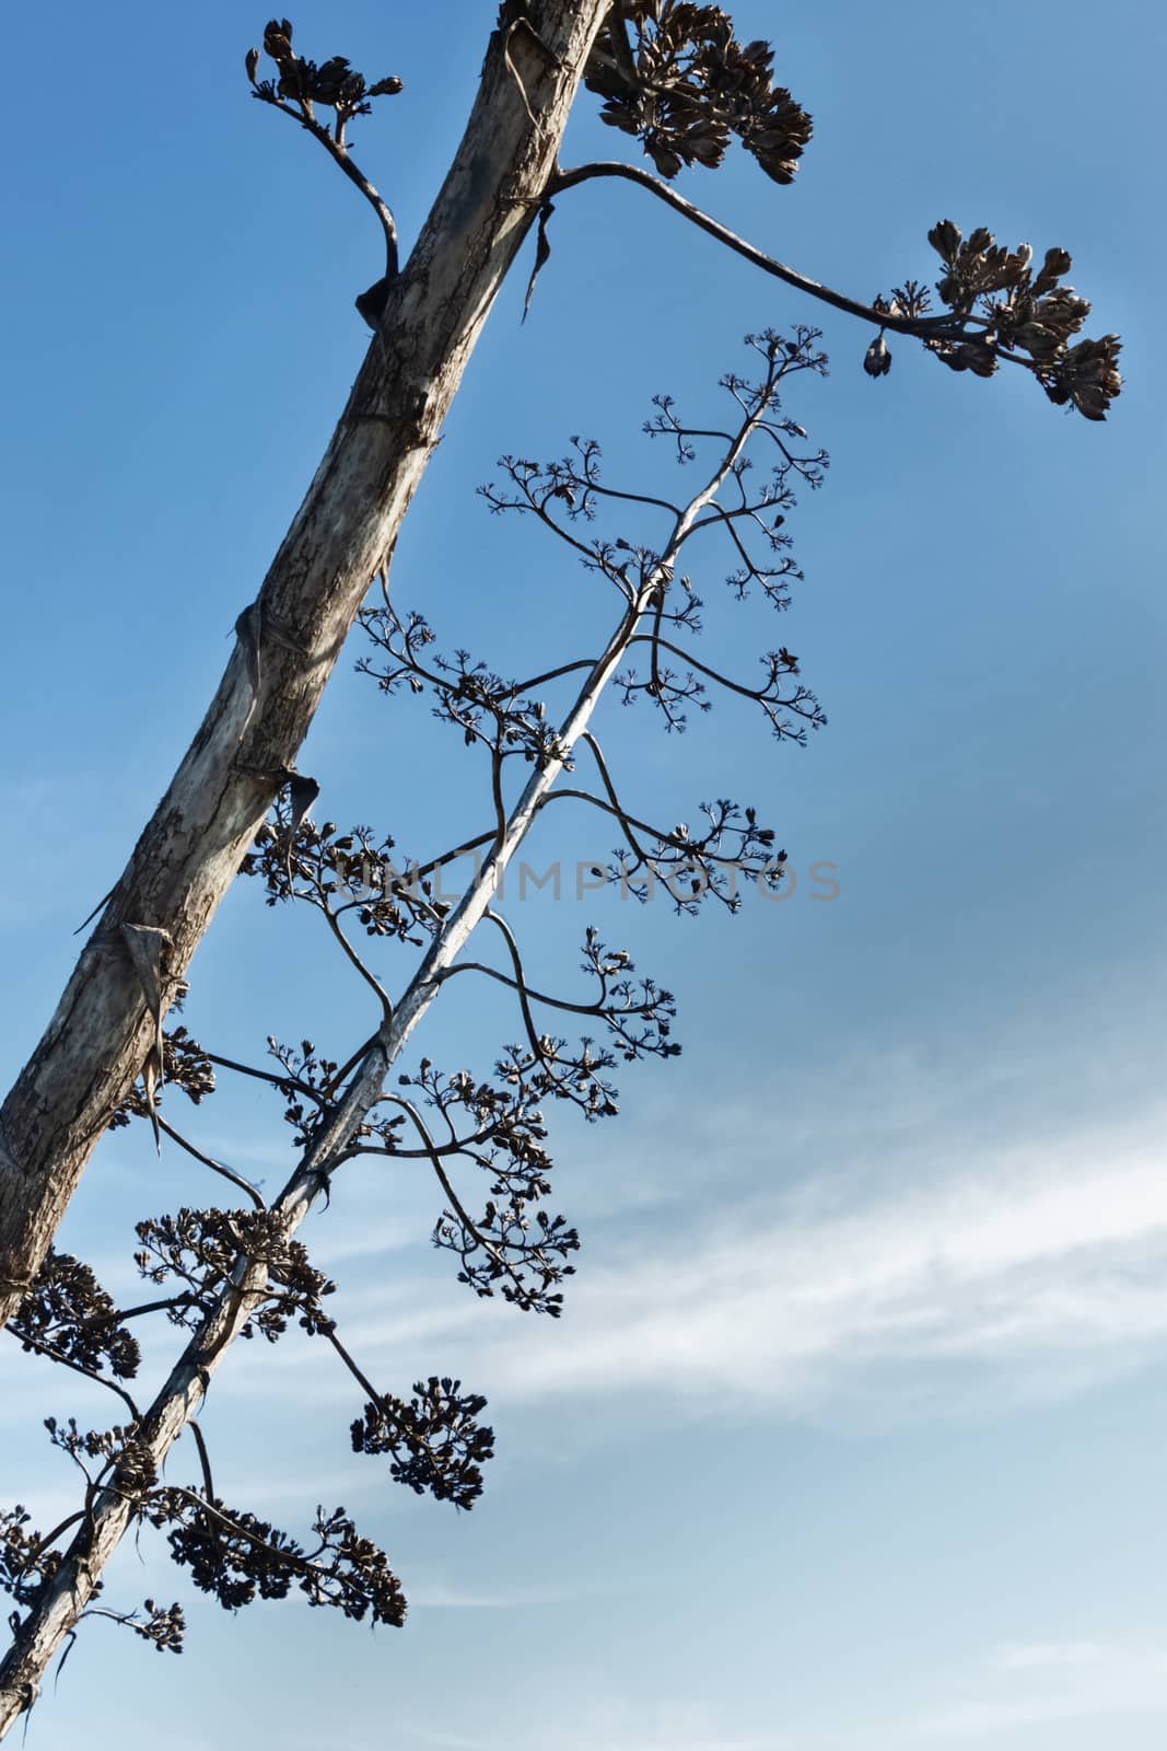
[[[401,697],[402,709],[429,704],[434,735],[451,735],[462,758],[479,763],[481,814],[471,823],[479,830],[425,860],[406,860],[390,833],[317,823],[310,812],[317,783],[287,774],[240,874],[262,904],[315,919],[332,939],[338,967],[355,979],[357,1000],[380,1019],[369,1033],[369,1016],[360,1016],[352,1038],[329,1052],[271,1035],[268,1061],[252,1065],[210,1051],[185,1024],[159,1021],[150,1075],[112,1124],[149,1121],[159,1145],[185,1150],[243,1203],[184,1205],[140,1220],[133,1261],[145,1289],[131,1304],[117,1304],[87,1264],[51,1252],[9,1324],[26,1352],[117,1399],[117,1422],[103,1429],[75,1417],[45,1418],[52,1448],[80,1478],[72,1515],[44,1530],[23,1504],[0,1515],[0,1590],[12,1600],[14,1635],[0,1690],[19,1690],[24,1705],[52,1651],[61,1641],[68,1648],[86,1618],[112,1620],[159,1651],[180,1651],[178,1602],[105,1604],[103,1569],[128,1534],[159,1532],[192,1585],[227,1611],[296,1590],[348,1618],[404,1621],[404,1593],[387,1555],[343,1508],[318,1506],[310,1534],[296,1537],[250,1508],[231,1506],[219,1488],[199,1410],[234,1340],[324,1347],[359,1389],[345,1417],[355,1453],[457,1509],[481,1495],[493,1455],[481,1394],[444,1375],[415,1382],[409,1397],[378,1385],[345,1343],[332,1313],[336,1285],[311,1264],[297,1229],[313,1206],[341,1196],[345,1166],[357,1157],[376,1157],[387,1173],[409,1178],[430,1171],[441,1198],[430,1240],[451,1259],[458,1283],[478,1297],[499,1296],[518,1311],[558,1319],[581,1241],[549,1206],[549,1110],[574,1108],[590,1124],[612,1119],[614,1075],[625,1065],[677,1058],[675,1000],[595,926],[583,935],[583,984],[560,991],[539,979],[502,911],[504,876],[544,809],[567,804],[618,840],[611,861],[590,867],[588,886],[597,891],[647,900],[660,890],[677,914],[695,916],[707,905],[737,912],[744,891],[772,893],[786,881],[786,851],[752,805],[717,798],[698,804],[693,825],[670,825],[651,818],[651,802],[632,802],[595,713],[611,695],[651,709],[665,732],[677,734],[716,695],[749,709],[779,742],[801,744],[824,723],[786,644],[759,657],[749,639],[752,664],[744,674],[702,660],[703,602],[682,569],[682,560],[705,566],[709,546],[721,543],[731,567],[728,604],[787,606],[801,578],[787,513],[796,489],[822,483],[826,455],[791,418],[786,396],[798,378],[826,373],[817,338],[807,327],[747,336],[751,376],[721,378],[724,429],[682,420],[670,396],[654,399],[646,440],[658,452],[663,443],[670,480],[675,464],[696,473],[686,490],[667,485],[646,496],[611,485],[598,443],[581,438],[553,461],[506,455],[500,478],[479,489],[492,513],[537,525],[583,567],[590,592],[609,608],[598,653],[555,651],[549,667],[527,676],[465,650],[443,655],[427,622],[399,609],[387,576],[373,580],[374,595],[360,613],[369,655],[357,669],[387,699]],[[768,466],[756,468],[747,452],[761,452]],[[623,713],[616,716],[623,721]],[[444,898],[437,877],[465,854],[474,856],[474,877],[457,902]],[[402,1068],[415,1024],[465,979],[490,981],[509,1009],[509,1035],[490,1070],[439,1068],[429,1058]],[[185,1107],[175,1112],[177,1093],[198,1124],[224,1072],[264,1084],[289,1126],[290,1177],[269,1199],[173,1122],[185,1124]],[[154,1397],[138,1403],[145,1369],[135,1329],[147,1319],[175,1331],[180,1354]],[[180,1436],[187,1439],[173,1453]],[[187,1476],[177,1464],[184,1455]]]

